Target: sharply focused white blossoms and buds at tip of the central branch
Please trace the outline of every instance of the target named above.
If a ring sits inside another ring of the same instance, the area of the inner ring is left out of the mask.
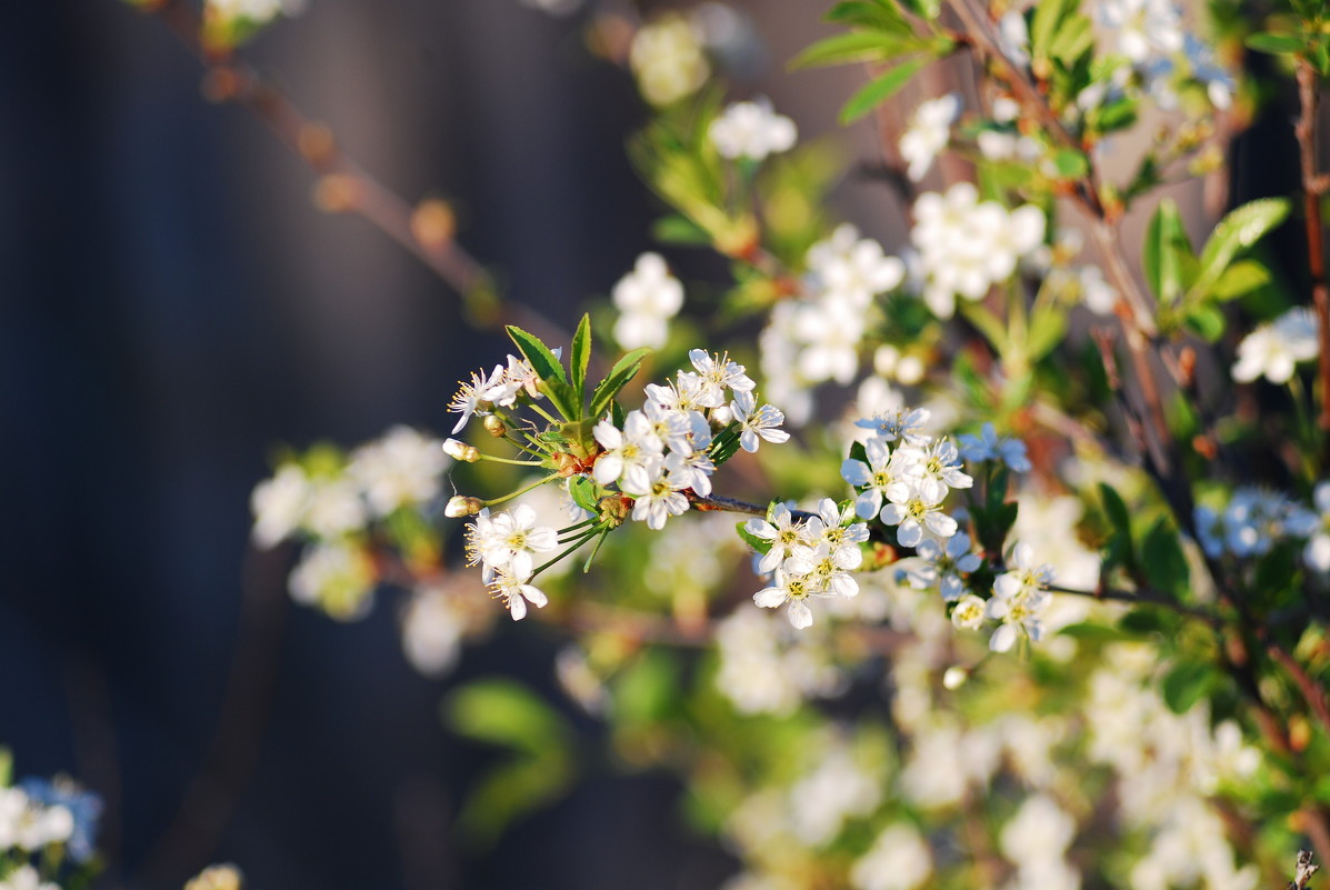
[[[557,361],[557,353],[548,355]],[[547,604],[548,597],[533,584],[535,577],[591,537],[602,536],[628,519],[658,531],[670,516],[688,512],[690,498],[712,494],[712,474],[738,448],[751,452],[762,442],[789,439],[781,428],[785,415],[757,400],[755,384],[742,365],[728,354],[701,349],[692,350],[689,361],[692,370],[680,371],[664,384],[648,384],[641,408],[624,414],[614,406],[608,416],[580,420],[576,427],[584,431],[581,440],[567,438],[572,424],[559,424],[544,434],[521,427],[529,444],[519,446],[533,459],[500,459],[481,455],[475,446],[456,439],[446,443],[448,454],[464,462],[489,459],[555,470],[496,500],[458,495],[446,510],[450,516],[475,515],[466,531],[468,563],[481,567],[484,583],[513,620],[527,615],[528,603]],[[560,372],[553,366],[545,370],[547,375]],[[452,410],[463,415],[463,423],[472,415],[489,415],[487,430],[507,438],[509,424],[525,423],[512,410],[519,402],[543,398],[541,387],[549,386],[548,376],[532,383],[535,379],[539,378],[528,362],[512,358],[507,367],[473,374],[454,398]],[[576,414],[579,407],[564,404],[559,410]],[[495,423],[489,423],[491,418]],[[456,431],[460,428],[462,424]],[[575,514],[573,524],[565,528],[539,524],[536,512],[525,504],[512,511],[489,510],[556,479],[565,486],[563,498]],[[579,495],[572,494],[573,486]],[[553,553],[560,547],[564,551]],[[536,565],[536,557],[547,553],[551,555],[547,561]]]

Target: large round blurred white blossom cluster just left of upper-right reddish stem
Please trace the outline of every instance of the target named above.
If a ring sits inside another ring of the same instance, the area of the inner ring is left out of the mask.
[[[1044,242],[1043,210],[980,201],[970,182],[919,196],[914,217],[910,239],[919,251],[923,299],[938,318],[952,317],[958,295],[982,299]]]

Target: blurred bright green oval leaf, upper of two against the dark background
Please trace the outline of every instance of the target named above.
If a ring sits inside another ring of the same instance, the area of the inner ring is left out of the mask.
[[[531,754],[572,737],[563,714],[504,677],[481,677],[455,690],[444,714],[459,736]]]

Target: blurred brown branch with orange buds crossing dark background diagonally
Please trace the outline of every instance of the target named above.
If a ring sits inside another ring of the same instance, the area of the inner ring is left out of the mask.
[[[243,59],[205,45],[200,37],[202,21],[189,3],[160,0],[142,8],[161,19],[203,65],[207,98],[247,108],[319,176],[315,201],[322,209],[356,213],[398,242],[462,297],[475,327],[515,323],[548,341],[568,339],[543,314],[500,298],[489,273],[456,242],[446,204],[423,201],[412,206],[347,156],[327,125],[307,117]]]

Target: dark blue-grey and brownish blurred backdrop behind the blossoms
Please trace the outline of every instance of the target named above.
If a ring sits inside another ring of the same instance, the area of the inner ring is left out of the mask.
[[[822,4],[738,5],[770,45],[735,96],[834,130],[861,73],[782,74]],[[426,680],[384,604],[351,625],[290,604],[291,553],[247,552],[247,499],[277,443],[450,428],[455,382],[504,343],[366,222],[315,210],[311,173],[201,97],[161,21],[0,7],[0,745],[19,776],[106,798],[102,886],[221,861],[255,890],[718,885],[734,866],[688,834],[676,785],[608,768],[497,849],[458,847],[487,754],[439,701],[495,670],[552,688],[555,643],[517,628]],[[622,150],[646,113],[576,17],[310,0],[246,56],[386,185],[455,202],[467,249],[564,325],[650,247]]]

